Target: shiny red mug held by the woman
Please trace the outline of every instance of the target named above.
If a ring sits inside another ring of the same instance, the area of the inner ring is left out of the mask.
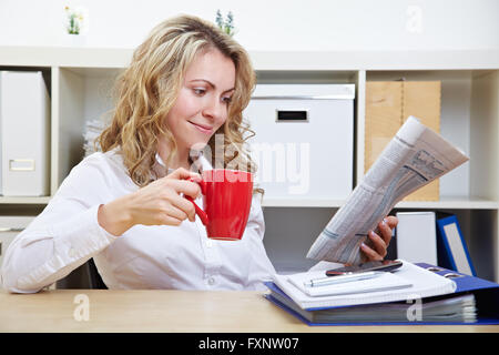
[[[207,236],[222,241],[240,241],[246,229],[253,196],[253,174],[238,170],[205,170],[196,181],[203,194],[204,211],[192,197],[196,214]],[[193,179],[190,179],[194,181]]]

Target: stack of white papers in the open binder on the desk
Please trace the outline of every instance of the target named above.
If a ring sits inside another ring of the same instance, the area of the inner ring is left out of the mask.
[[[324,271],[275,275],[266,297],[310,323],[472,323],[472,294],[451,295],[456,283],[403,261],[393,273],[345,284],[309,286]],[[332,276],[337,277],[337,276]],[[411,318],[413,317],[413,318]]]

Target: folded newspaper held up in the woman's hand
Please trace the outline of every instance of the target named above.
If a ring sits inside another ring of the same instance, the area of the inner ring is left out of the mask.
[[[366,261],[360,244],[397,202],[468,161],[441,135],[409,116],[308,251],[335,263]]]

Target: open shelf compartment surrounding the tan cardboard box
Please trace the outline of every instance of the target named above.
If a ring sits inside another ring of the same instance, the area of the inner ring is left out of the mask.
[[[498,201],[498,73],[497,70],[366,72],[366,81],[441,81],[440,134],[469,155],[470,161],[440,178],[440,200],[464,196],[464,201],[476,201],[478,196],[479,201]],[[364,160],[364,150],[359,149],[358,159]],[[363,174],[359,171],[357,179]]]

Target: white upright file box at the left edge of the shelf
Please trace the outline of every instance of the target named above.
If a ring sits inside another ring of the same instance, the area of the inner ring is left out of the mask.
[[[39,71],[0,72],[1,194],[49,195],[50,99]]]

